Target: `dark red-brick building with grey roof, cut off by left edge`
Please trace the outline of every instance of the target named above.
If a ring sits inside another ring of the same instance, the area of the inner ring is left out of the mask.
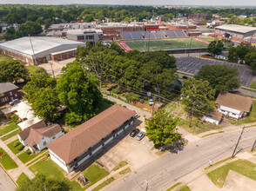
[[[20,95],[17,91],[17,85],[11,82],[1,82],[0,83],[0,106],[11,102],[15,99],[19,99]]]

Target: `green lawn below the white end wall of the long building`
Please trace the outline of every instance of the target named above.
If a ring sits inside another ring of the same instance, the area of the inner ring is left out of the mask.
[[[40,173],[57,181],[64,181],[72,188],[71,190],[84,191],[84,188],[82,188],[77,181],[70,181],[68,178],[66,178],[64,176],[64,170],[58,167],[54,161],[51,161],[51,159],[46,161],[38,161],[36,164],[30,167],[30,170],[34,174]]]

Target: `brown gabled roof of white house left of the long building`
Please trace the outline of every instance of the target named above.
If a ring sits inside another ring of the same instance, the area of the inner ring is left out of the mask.
[[[46,126],[45,122],[38,122],[30,128],[25,128],[24,131],[19,132],[18,135],[30,147],[33,147],[35,144],[38,144],[43,137],[51,137],[60,131],[62,131],[62,128],[58,124]]]

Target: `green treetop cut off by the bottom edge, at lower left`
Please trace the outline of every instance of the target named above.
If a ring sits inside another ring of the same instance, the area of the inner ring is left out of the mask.
[[[64,181],[57,181],[50,177],[46,177],[42,174],[37,174],[32,180],[25,179],[21,185],[16,188],[17,191],[68,191],[71,190],[71,187],[67,185]]]

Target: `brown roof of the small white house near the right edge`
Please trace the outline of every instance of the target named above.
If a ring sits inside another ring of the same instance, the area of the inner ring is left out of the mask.
[[[216,103],[228,108],[237,109],[242,112],[250,112],[253,99],[243,96],[220,91]]]

